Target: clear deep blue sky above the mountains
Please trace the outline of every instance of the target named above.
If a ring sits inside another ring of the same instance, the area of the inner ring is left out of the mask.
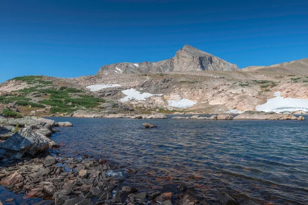
[[[0,82],[160,61],[185,44],[240,68],[308,58],[308,1],[0,0]]]

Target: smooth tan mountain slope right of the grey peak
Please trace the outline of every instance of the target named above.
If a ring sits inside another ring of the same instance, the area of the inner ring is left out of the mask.
[[[283,74],[308,75],[308,59],[290,61],[271,66],[249,66],[242,71],[279,72]]]

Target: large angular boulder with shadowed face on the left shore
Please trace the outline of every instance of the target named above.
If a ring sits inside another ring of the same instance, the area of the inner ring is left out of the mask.
[[[24,155],[34,156],[50,146],[56,145],[44,135],[34,133],[29,128],[22,128],[8,140],[0,144],[0,157],[22,158]]]

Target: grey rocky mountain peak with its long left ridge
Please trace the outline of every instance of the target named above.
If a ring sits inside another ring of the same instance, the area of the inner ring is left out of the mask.
[[[170,71],[219,70],[236,71],[237,65],[228,63],[212,54],[185,45],[174,58],[159,62],[115,63],[102,66],[97,74],[160,73]]]

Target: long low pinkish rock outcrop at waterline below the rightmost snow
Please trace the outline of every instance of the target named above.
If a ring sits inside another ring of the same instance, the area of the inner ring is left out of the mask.
[[[262,111],[245,111],[243,114],[234,117],[235,120],[297,120],[293,115],[265,113]]]

